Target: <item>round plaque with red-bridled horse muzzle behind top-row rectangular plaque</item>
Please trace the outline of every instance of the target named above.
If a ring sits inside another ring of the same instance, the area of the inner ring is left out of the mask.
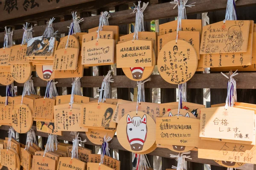
[[[154,49],[153,49],[154,50]],[[153,52],[153,63],[152,67],[131,67],[131,68],[122,68],[126,77],[134,81],[142,81],[147,79],[152,72],[154,71],[154,67],[156,65],[156,54]]]

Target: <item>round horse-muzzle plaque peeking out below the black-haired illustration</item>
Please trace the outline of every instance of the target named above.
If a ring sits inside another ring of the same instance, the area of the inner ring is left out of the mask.
[[[53,65],[36,65],[36,73],[40,79],[49,81],[55,78],[55,71],[52,68]]]

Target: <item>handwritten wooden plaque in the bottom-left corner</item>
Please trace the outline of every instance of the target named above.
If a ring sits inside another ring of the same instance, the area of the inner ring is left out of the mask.
[[[1,165],[16,170],[17,158],[13,150],[1,149]]]

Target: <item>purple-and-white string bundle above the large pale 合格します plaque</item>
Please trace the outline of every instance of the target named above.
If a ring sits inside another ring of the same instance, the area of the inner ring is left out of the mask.
[[[221,72],[221,74],[229,79],[227,83],[227,98],[226,98],[226,105],[225,109],[227,110],[227,107],[233,107],[236,100],[236,80],[233,78],[236,76],[238,70],[236,70],[234,73],[232,71],[229,72],[229,77]]]

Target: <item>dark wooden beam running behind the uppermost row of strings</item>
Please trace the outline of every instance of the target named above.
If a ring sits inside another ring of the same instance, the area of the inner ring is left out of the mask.
[[[196,0],[190,0],[189,3],[193,3]],[[214,4],[214,5],[212,5]],[[241,0],[236,2],[236,6],[249,6],[256,5],[255,0]],[[157,5],[148,6],[144,11],[144,20],[158,20],[162,18],[170,18],[177,16],[177,8],[173,9],[175,5],[170,3],[161,3]],[[196,5],[192,8],[186,8],[187,14],[202,13],[206,11],[221,10],[226,8],[227,0],[197,0]],[[15,9],[14,9],[15,10]],[[134,23],[135,14],[132,13],[132,9],[118,11],[111,13],[109,19],[109,25],[120,25]],[[60,23],[52,24],[55,30],[61,33],[68,32],[71,21],[64,21]],[[99,25],[99,15],[93,17],[84,18],[84,22],[81,23],[81,30],[93,28]],[[33,27],[33,37],[40,36],[44,33],[46,26]],[[23,29],[15,30],[13,33],[13,40],[22,39]],[[0,33],[0,42],[4,40],[4,33]]]

